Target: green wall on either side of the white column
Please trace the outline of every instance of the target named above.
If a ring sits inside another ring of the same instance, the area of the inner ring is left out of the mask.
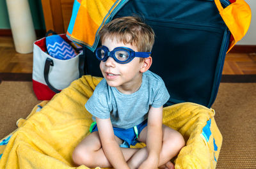
[[[41,0],[28,0],[35,29],[45,29]],[[11,29],[6,0],[0,0],[0,29]]]

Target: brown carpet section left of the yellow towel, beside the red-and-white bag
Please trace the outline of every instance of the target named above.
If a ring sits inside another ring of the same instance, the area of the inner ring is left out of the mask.
[[[0,139],[12,133],[19,118],[26,118],[40,103],[32,89],[32,82],[6,82],[0,84]]]

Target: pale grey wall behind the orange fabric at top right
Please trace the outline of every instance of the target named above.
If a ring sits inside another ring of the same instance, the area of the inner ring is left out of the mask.
[[[248,32],[241,41],[237,42],[237,45],[256,45],[256,1],[245,0],[249,4],[252,10],[252,21]]]

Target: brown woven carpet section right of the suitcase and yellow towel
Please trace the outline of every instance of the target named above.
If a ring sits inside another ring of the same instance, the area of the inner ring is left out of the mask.
[[[217,168],[256,168],[256,83],[221,84],[212,108],[223,136]]]

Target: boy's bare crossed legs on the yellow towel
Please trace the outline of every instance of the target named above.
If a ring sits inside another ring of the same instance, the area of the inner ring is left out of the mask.
[[[147,127],[141,131],[138,140],[146,143]],[[116,137],[116,142],[120,145],[122,140]],[[184,147],[182,135],[174,129],[163,125],[163,144],[159,158],[160,168],[174,168],[170,159],[176,156],[182,147]],[[148,156],[147,147],[142,149],[121,148],[121,150],[130,168],[138,168]],[[107,168],[112,166],[102,150],[99,133],[97,131],[86,136],[86,138],[79,143],[73,152],[73,161],[76,165],[86,165],[90,168],[95,168],[96,166]]]

